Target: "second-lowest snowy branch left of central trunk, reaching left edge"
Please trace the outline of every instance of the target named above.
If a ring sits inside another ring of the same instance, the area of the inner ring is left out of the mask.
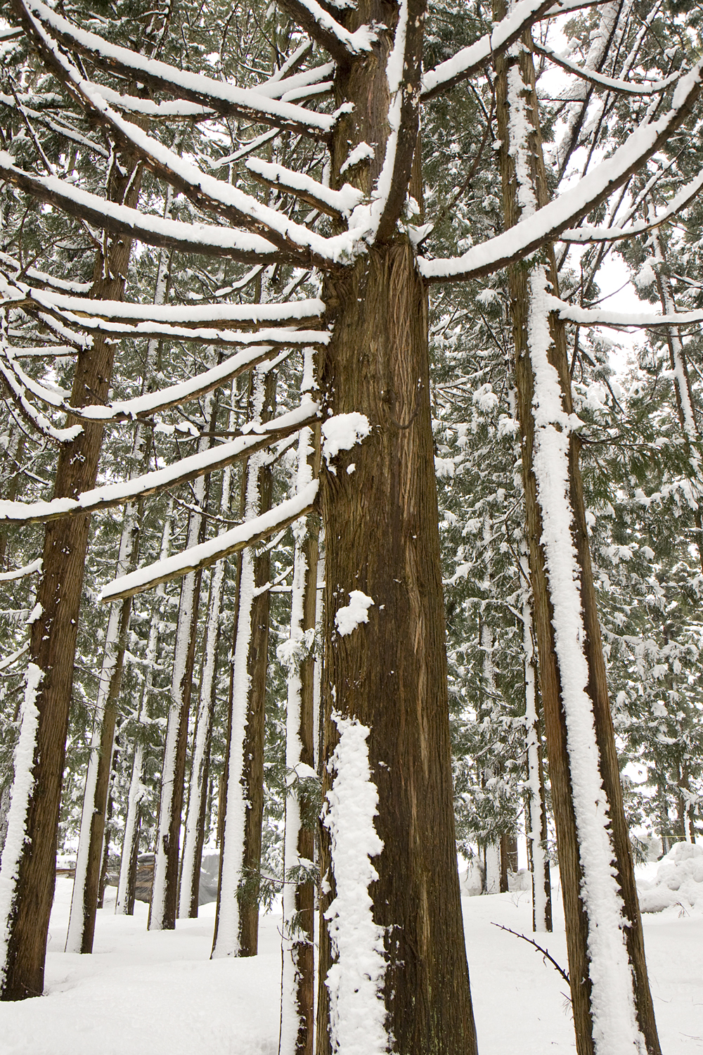
[[[217,469],[231,465],[240,458],[268,447],[276,440],[297,433],[317,420],[319,407],[316,403],[306,403],[281,414],[263,424],[245,425],[241,436],[229,443],[211,447],[200,454],[181,458],[173,465],[154,469],[143,476],[133,477],[119,483],[109,483],[92,491],[84,491],[78,498],[54,498],[48,502],[0,501],[0,521],[5,523],[44,523],[62,517],[82,516],[97,510],[124,505],[147,495],[175,487],[188,480],[195,480]],[[78,426],[80,427],[80,426]]]

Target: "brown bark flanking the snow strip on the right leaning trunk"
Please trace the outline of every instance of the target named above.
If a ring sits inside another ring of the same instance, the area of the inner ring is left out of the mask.
[[[502,17],[505,7],[496,5],[496,15]],[[496,60],[496,116],[499,135],[502,137],[500,162],[502,169],[506,227],[513,226],[520,218],[518,205],[518,184],[513,159],[509,154],[510,133],[508,127],[507,71],[510,62],[519,62],[524,84],[528,85],[529,110],[532,131],[530,133],[530,159],[532,164],[532,187],[538,206],[549,199],[542,141],[539,131],[539,112],[534,92],[534,65],[531,54],[531,36],[525,35],[524,49],[518,58],[501,57]],[[551,247],[545,251],[552,290],[558,293],[554,254]],[[582,871],[580,845],[573,811],[573,797],[566,742],[566,721],[561,697],[561,671],[554,648],[554,628],[549,586],[545,574],[545,557],[541,545],[542,520],[536,495],[535,478],[532,469],[534,446],[534,422],[532,417],[533,377],[527,346],[529,268],[525,264],[508,269],[510,301],[512,309],[513,334],[515,343],[515,378],[518,389],[518,410],[522,429],[523,478],[527,517],[527,539],[529,546],[530,576],[534,596],[534,629],[540,659],[540,689],[544,709],[549,775],[552,789],[552,805],[556,825],[560,876],[566,919],[567,950],[571,1004],[579,1055],[592,1055],[592,1012],[591,982],[589,977],[588,920],[581,900]],[[552,345],[549,360],[556,369],[562,388],[564,409],[570,414],[571,384],[566,350],[566,333],[562,323],[553,315],[550,319]],[[632,972],[636,1010],[640,1030],[650,1055],[659,1055],[660,1047],[653,1016],[647,968],[644,958],[644,942],[640,909],[634,887],[632,855],[623,809],[620,769],[616,752],[612,718],[601,645],[601,631],[595,603],[595,591],[590,563],[588,533],[586,526],[583,485],[579,466],[579,442],[571,436],[569,449],[569,491],[573,515],[572,540],[580,569],[581,602],[586,641],[585,654],[588,663],[587,693],[591,699],[595,725],[595,736],[600,755],[600,770],[603,787],[608,800],[608,816],[614,847],[613,862],[618,884],[624,903],[627,953]]]

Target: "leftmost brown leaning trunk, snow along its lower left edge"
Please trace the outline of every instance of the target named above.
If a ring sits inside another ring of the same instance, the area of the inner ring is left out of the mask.
[[[139,175],[113,169],[112,200],[136,206]],[[124,235],[108,242],[96,260],[91,296],[119,301],[124,292],[132,242]],[[116,344],[96,334],[78,353],[71,405],[105,403]],[[71,424],[71,421],[69,422]],[[84,422],[78,435],[62,444],[55,498],[76,498],[95,485],[103,426]],[[48,918],[56,877],[56,833],[73,688],[74,656],[89,516],[54,520],[46,525],[38,613],[32,624],[30,663],[8,830],[2,856],[0,929],[0,996],[21,1000],[40,996]]]

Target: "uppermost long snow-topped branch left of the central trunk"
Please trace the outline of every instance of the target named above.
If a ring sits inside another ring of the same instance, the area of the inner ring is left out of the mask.
[[[13,0],[12,7],[40,49],[42,58],[52,66],[56,62],[58,41],[91,59],[100,70],[129,81],[139,80],[156,91],[180,96],[221,116],[243,117],[315,138],[326,138],[336,122],[333,114],[316,114],[304,107],[260,95],[255,89],[241,89],[203,74],[178,70],[128,47],[111,44],[74,25],[40,0]],[[53,54],[46,54],[47,49]]]

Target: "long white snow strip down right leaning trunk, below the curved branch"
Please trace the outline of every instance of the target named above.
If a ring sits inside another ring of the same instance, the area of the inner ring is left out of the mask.
[[[547,275],[538,266],[530,276],[528,340],[534,373],[534,476],[542,514],[542,544],[553,607],[554,648],[566,718],[569,770],[583,880],[581,897],[588,918],[589,974],[592,984],[597,1055],[645,1051],[634,1012],[632,976],[625,945],[623,902],[612,867],[608,802],[599,768],[591,701],[586,691],[588,664],[581,611],[580,576],[571,538],[569,500],[569,417],[562,407],[551,344]]]

